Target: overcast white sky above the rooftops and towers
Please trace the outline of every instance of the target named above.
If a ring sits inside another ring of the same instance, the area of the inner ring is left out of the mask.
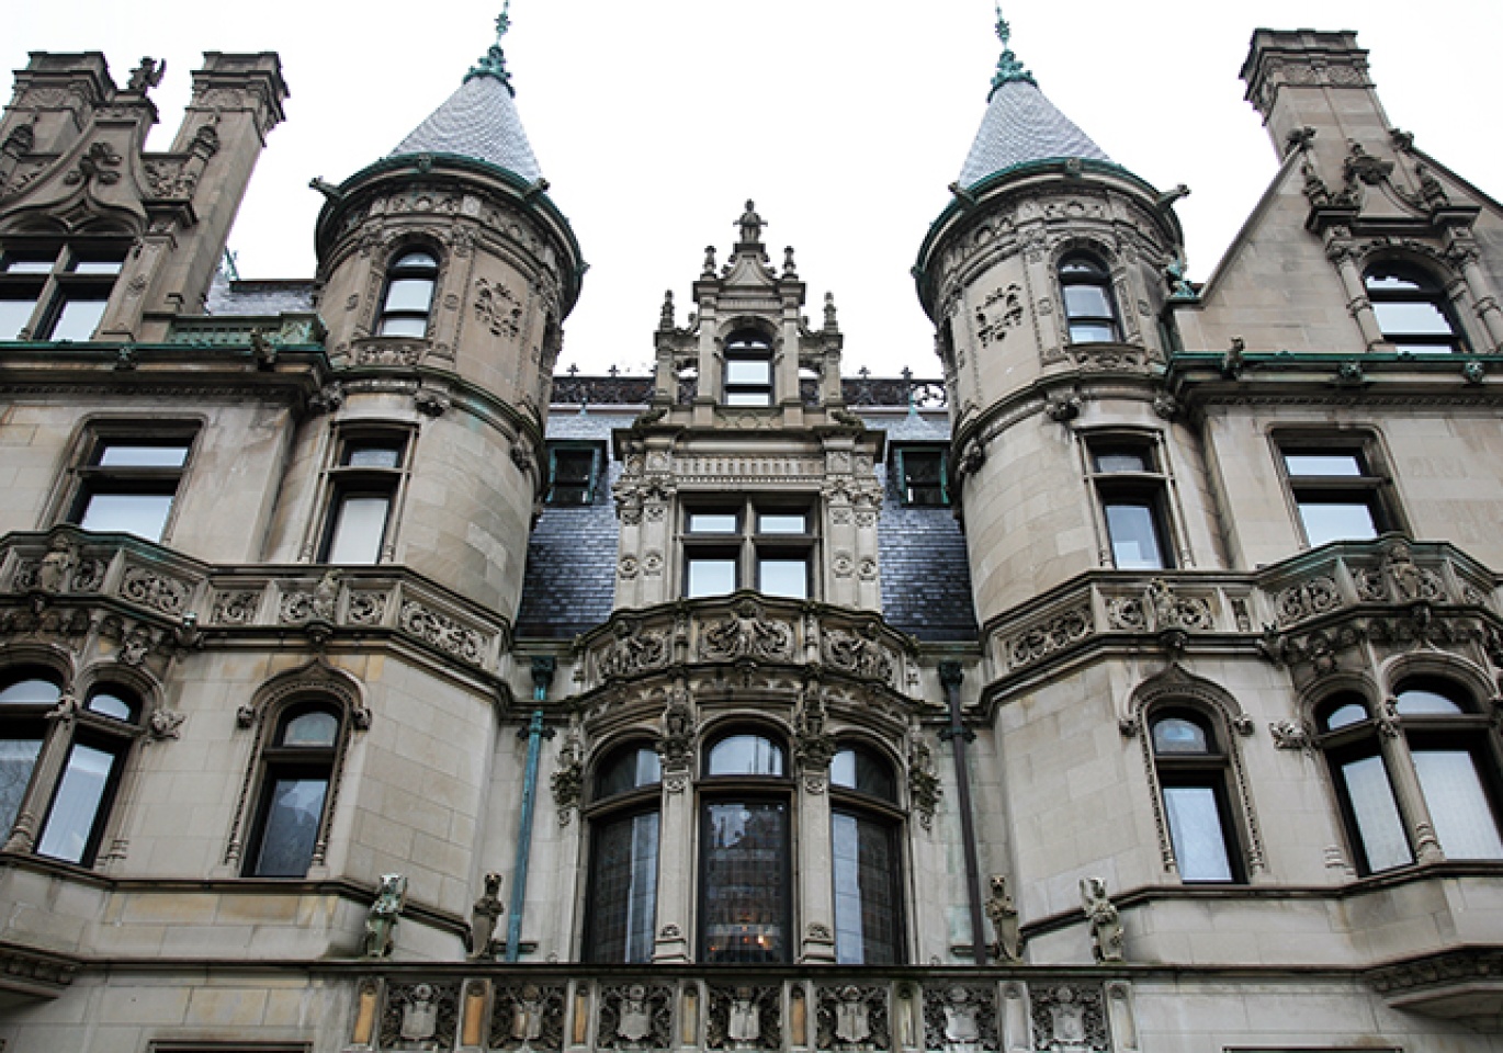
[[[242,276],[298,278],[314,269],[322,203],[308,179],[340,182],[388,153],[484,53],[497,5],[14,0],[0,60],[98,50],[123,83],[143,54],[165,59],[150,141],[165,149],[203,51],[281,53],[287,122],[230,248]],[[1237,78],[1257,26],[1357,30],[1392,123],[1503,195],[1497,0],[1009,0],[1004,14],[1043,92],[1114,161],[1190,186],[1178,213],[1192,278],[1273,174]],[[703,246],[724,258],[752,197],[768,248],[797,248],[816,321],[836,294],[848,373],[938,376],[908,269],[986,107],[990,0],[514,0],[511,17],[517,107],[591,263],[562,365],[643,368],[663,290],[682,324]]]

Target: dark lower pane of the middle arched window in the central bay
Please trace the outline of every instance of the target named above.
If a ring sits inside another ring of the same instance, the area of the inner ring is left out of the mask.
[[[789,960],[783,801],[709,801],[700,820],[700,960]]]

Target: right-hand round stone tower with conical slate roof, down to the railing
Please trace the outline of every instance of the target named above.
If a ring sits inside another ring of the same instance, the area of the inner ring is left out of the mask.
[[[1193,467],[1157,388],[1163,308],[1193,294],[1175,293],[1184,191],[1114,164],[1039,90],[1001,15],[996,32],[986,116],[914,267],[983,625],[1075,574],[1184,566],[1210,545],[1172,499]]]

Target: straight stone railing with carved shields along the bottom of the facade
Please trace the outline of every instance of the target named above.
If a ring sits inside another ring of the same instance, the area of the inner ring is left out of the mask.
[[[353,981],[344,1051],[1138,1048],[1132,984],[1105,969],[1030,969],[1027,979],[1021,969],[942,967],[600,972],[479,961],[391,967]]]

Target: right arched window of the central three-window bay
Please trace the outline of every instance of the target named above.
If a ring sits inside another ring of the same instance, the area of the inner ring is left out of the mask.
[[[893,766],[875,750],[842,747],[830,789],[836,960],[894,964],[903,958],[903,867]]]

